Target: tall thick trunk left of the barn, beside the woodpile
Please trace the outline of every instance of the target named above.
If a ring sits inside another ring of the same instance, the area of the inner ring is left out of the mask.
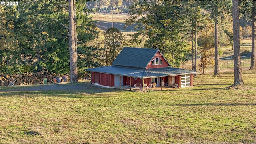
[[[77,47],[76,47],[76,7],[75,1],[69,0],[69,63],[70,63],[70,83],[78,82],[77,72]]]

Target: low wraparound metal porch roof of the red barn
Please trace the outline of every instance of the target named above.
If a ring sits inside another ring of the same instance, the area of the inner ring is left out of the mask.
[[[104,67],[98,67],[98,68],[90,68],[86,70],[89,72],[99,72],[99,73],[105,73],[105,74],[114,74],[119,76],[128,76],[128,77],[143,78],[143,79],[199,73],[194,70],[184,70],[184,69],[172,68],[172,67],[141,69],[141,68],[129,68],[129,67],[121,67],[121,66],[104,66]]]

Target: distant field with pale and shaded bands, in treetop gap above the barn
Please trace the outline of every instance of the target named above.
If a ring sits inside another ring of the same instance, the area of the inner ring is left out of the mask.
[[[114,28],[118,28],[122,32],[136,32],[134,26],[128,26],[124,30],[125,19],[130,17],[129,14],[92,14],[94,20],[98,20],[97,27],[101,30],[107,30],[112,27],[112,22],[114,23]]]

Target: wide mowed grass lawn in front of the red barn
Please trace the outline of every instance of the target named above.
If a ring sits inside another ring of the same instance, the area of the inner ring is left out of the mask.
[[[243,78],[238,89],[224,73],[171,91],[0,91],[0,143],[255,143],[256,72]]]

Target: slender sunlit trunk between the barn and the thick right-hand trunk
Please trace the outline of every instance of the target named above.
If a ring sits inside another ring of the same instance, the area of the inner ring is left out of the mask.
[[[215,19],[215,40],[214,40],[214,45],[215,45],[215,64],[214,64],[214,75],[219,75],[220,74],[220,55],[219,55],[219,31],[218,31],[218,17]]]

